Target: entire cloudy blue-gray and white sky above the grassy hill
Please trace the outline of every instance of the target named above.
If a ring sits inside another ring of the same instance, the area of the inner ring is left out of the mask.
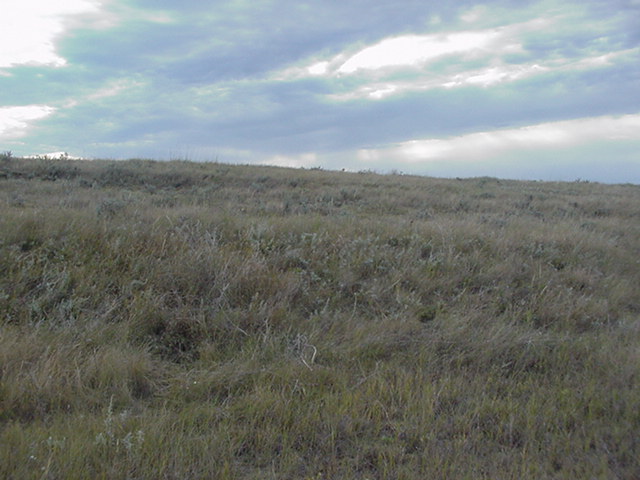
[[[2,0],[0,150],[640,183],[640,0]]]

